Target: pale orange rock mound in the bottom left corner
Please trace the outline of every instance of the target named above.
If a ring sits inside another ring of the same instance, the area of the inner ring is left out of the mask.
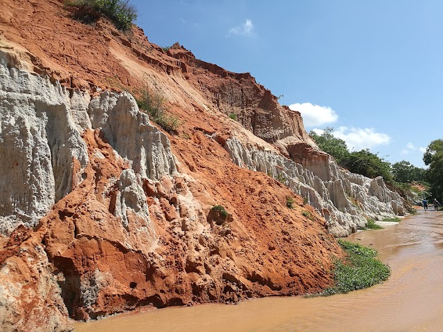
[[[71,329],[57,273],[38,237],[23,226],[17,228],[8,243],[3,244],[0,263],[1,331]]]

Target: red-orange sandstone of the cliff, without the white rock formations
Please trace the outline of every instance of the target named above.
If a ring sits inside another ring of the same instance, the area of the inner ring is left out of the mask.
[[[297,295],[331,283],[332,257],[343,254],[324,219],[273,178],[234,165],[224,149],[233,133],[257,139],[244,128],[266,142],[307,141],[299,113],[281,107],[248,73],[195,59],[177,44],[164,53],[138,28],[123,34],[105,20],[84,25],[62,1],[0,6],[0,50],[8,68],[48,75],[71,95],[136,92],[148,84],[185,121],[177,134],[167,134],[178,172],[136,179],[152,225],[143,232],[145,220],[135,208],[125,223],[116,213],[124,192],[116,179],[123,181],[134,160],[119,156],[104,127],[78,124],[87,161],[69,164],[71,190],[35,227],[19,226],[1,241],[0,284],[9,292],[0,304],[5,329],[65,331],[67,315],[89,319],[143,305]],[[209,217],[217,204],[230,213],[221,225]]]

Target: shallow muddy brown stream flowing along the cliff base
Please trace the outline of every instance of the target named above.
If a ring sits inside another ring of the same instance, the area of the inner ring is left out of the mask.
[[[383,284],[330,297],[268,297],[125,313],[75,332],[443,331],[443,212],[422,212],[350,241],[372,246],[389,264]]]

